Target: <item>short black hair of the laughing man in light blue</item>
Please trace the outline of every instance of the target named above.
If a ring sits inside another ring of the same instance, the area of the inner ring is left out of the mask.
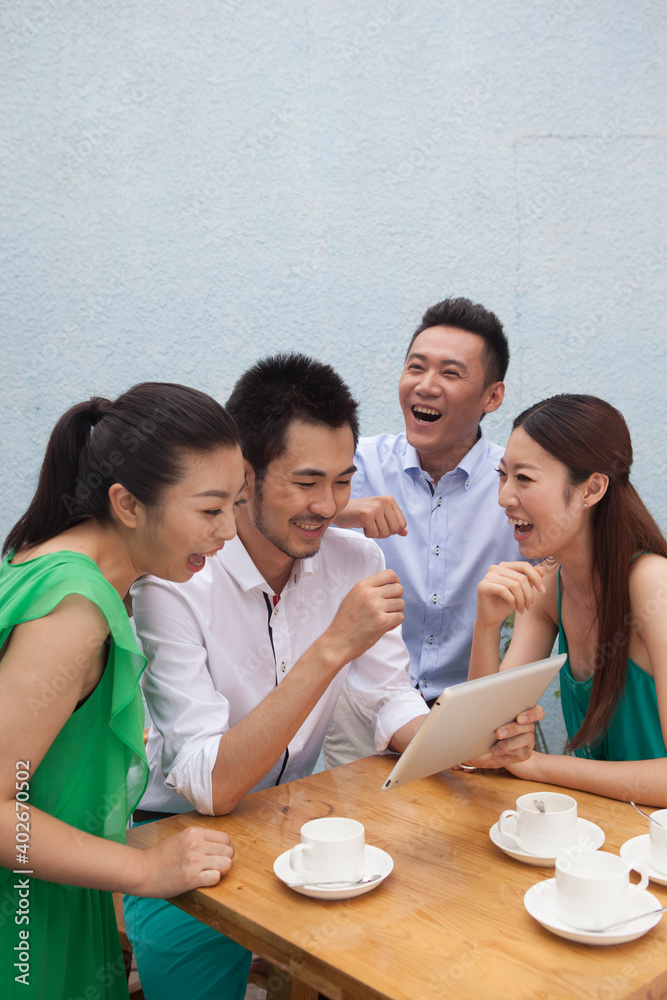
[[[427,309],[422,316],[422,321],[408,344],[406,357],[419,334],[432,326],[456,327],[481,337],[484,341],[482,363],[486,385],[503,381],[510,361],[510,349],[503,325],[495,313],[470,299],[444,299]]]

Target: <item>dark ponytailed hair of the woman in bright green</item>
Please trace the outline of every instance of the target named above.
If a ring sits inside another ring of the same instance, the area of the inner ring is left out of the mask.
[[[238,432],[224,408],[185,385],[143,382],[115,403],[99,396],[78,403],[51,433],[37,491],[7,535],[3,554],[87,518],[108,522],[114,483],[147,507],[159,506],[183,474],[185,453],[236,444]]]

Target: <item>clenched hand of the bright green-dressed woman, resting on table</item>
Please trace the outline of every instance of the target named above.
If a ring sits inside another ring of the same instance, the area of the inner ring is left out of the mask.
[[[169,899],[189,889],[216,885],[232,867],[234,847],[226,833],[189,827],[142,852],[137,896]]]

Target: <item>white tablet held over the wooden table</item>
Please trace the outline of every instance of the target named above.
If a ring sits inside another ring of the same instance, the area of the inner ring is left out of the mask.
[[[445,688],[383,788],[437,774],[491,749],[496,729],[537,704],[565,654]]]

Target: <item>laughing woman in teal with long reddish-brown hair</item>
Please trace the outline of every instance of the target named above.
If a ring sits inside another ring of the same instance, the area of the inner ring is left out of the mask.
[[[667,542],[631,465],[623,417],[594,396],[553,396],[516,418],[498,502],[537,565],[501,563],[480,583],[469,676],[548,656],[558,637],[567,752],[510,770],[667,806]]]

